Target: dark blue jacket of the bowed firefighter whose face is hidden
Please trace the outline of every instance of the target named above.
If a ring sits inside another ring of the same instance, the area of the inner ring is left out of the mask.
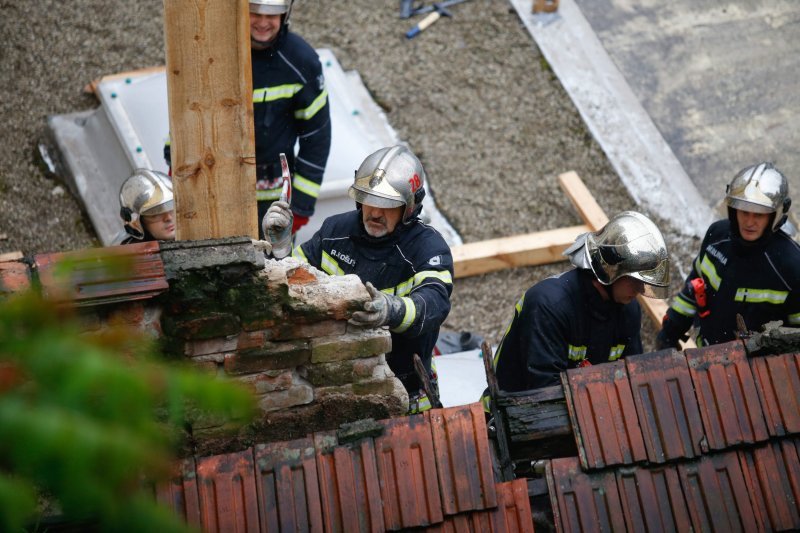
[[[560,383],[559,374],[583,360],[615,361],[642,352],[642,311],[634,300],[603,300],[589,270],[547,278],[517,302],[514,318],[495,353],[501,390]]]

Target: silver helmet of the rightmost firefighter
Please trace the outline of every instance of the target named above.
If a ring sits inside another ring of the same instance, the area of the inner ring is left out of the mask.
[[[725,203],[751,213],[775,213],[772,231],[786,222],[792,205],[789,183],[772,163],[759,163],[740,170],[726,189]]]

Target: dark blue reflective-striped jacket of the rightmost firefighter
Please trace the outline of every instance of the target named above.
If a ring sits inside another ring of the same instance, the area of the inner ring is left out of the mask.
[[[698,277],[705,285],[704,308],[690,286]],[[730,221],[719,220],[709,226],[686,283],[667,310],[659,341],[674,346],[693,324],[699,328],[698,346],[734,340],[737,314],[751,331],[773,320],[800,326],[800,246],[780,230],[745,245],[734,237]]]

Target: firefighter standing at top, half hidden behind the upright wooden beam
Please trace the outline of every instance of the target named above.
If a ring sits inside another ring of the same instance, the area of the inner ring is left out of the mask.
[[[331,122],[328,91],[317,52],[289,31],[293,2],[250,1],[250,49],[258,220],[280,196],[282,172],[278,156],[285,153],[293,176],[295,233],[314,214],[330,151]],[[169,164],[169,143],[164,157]]]

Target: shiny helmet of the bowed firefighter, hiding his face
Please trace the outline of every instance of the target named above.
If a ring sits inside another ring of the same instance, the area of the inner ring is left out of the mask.
[[[622,276],[644,282],[644,295],[668,298],[669,254],[664,237],[649,218],[635,211],[614,216],[600,231],[583,233],[564,251],[578,268],[611,285]]]

